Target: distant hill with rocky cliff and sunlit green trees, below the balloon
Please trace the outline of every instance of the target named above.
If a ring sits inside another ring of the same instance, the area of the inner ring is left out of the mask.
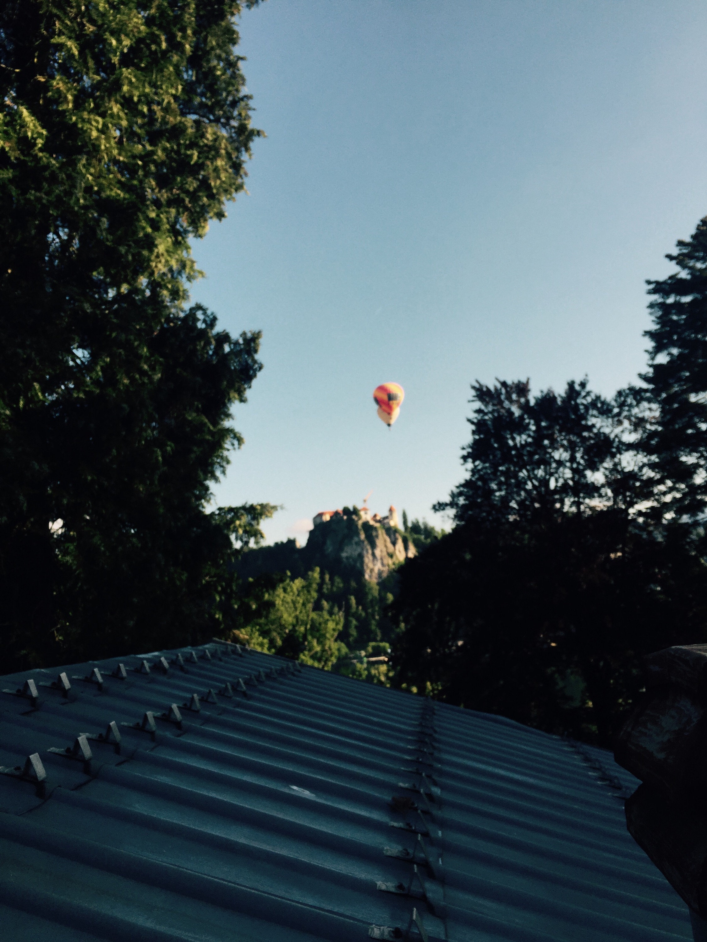
[[[397,573],[416,543],[439,534],[419,521],[403,530],[368,523],[356,507],[294,540],[252,548],[237,564],[239,625],[233,637],[273,653],[359,677],[391,680],[390,645],[399,630],[388,616]]]

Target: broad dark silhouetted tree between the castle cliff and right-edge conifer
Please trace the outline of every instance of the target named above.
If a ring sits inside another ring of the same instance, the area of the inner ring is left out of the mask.
[[[642,514],[649,409],[586,382],[474,387],[457,526],[400,570],[396,682],[610,745],[640,657],[707,639],[707,568]]]

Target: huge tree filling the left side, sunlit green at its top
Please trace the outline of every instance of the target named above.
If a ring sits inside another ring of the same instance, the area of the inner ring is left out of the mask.
[[[251,6],[249,4],[249,6]],[[268,505],[208,511],[261,365],[200,306],[189,239],[243,189],[234,16],[186,0],[0,11],[5,669],[231,624]]]

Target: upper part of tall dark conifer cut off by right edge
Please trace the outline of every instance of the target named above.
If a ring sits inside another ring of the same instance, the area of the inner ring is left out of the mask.
[[[649,282],[649,383],[657,404],[646,446],[660,515],[694,520],[707,501],[707,217],[667,255],[678,271]]]

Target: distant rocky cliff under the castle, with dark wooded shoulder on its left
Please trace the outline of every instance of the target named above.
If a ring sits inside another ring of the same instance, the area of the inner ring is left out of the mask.
[[[416,555],[415,546],[394,527],[339,516],[315,527],[303,547],[288,540],[250,550],[239,561],[238,573],[248,578],[287,571],[298,577],[319,566],[332,576],[380,582]]]

